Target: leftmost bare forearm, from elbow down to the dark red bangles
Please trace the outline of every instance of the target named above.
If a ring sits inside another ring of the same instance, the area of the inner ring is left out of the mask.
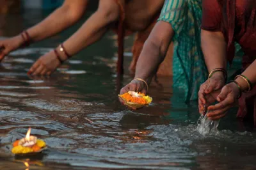
[[[72,2],[68,0],[66,3]],[[44,40],[72,26],[82,17],[86,4],[87,0],[82,3],[74,1],[72,6],[63,4],[63,6],[51,13],[49,17],[27,30],[31,40],[33,42]]]

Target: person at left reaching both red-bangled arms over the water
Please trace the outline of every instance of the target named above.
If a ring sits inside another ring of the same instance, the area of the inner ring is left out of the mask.
[[[72,26],[83,16],[87,3],[88,0],[65,0],[60,8],[36,26],[13,38],[1,40],[0,61],[4,56],[22,45],[44,40]],[[86,20],[83,26],[56,49],[41,56],[31,66],[28,73],[32,75],[51,74],[70,56],[100,40],[108,29],[115,29],[118,33],[118,61],[120,65],[122,65],[124,36],[138,31],[132,48],[133,61],[130,66],[131,70],[134,70],[143,43],[156,23],[163,3],[164,0],[100,0],[97,11]]]

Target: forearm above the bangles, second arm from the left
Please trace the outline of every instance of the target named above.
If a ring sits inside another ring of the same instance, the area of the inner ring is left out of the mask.
[[[119,17],[119,6],[113,0],[100,0],[98,10],[63,45],[71,56],[97,42]]]

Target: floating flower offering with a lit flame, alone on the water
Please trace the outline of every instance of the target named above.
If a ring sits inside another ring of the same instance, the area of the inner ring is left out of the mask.
[[[28,129],[26,137],[17,140],[13,143],[12,153],[26,154],[26,153],[39,153],[46,148],[43,140],[30,135],[31,128]]]

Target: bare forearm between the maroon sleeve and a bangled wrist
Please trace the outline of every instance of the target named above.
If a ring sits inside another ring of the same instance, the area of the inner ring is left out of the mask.
[[[202,50],[208,71],[214,68],[227,67],[227,43],[220,32],[209,32],[202,30]]]

